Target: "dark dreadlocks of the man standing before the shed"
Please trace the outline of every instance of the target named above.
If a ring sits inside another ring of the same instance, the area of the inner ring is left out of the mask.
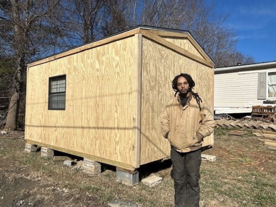
[[[195,87],[195,81],[192,79],[192,77],[189,74],[180,73],[180,75],[175,76],[175,78],[173,79],[172,87],[173,87],[173,90],[175,91],[175,96],[176,96],[176,94],[178,92],[178,89],[177,89],[177,80],[181,76],[184,77],[188,81],[188,83],[189,83],[189,90],[188,90],[188,92],[190,92],[193,95],[193,97],[197,101],[197,104],[199,105],[199,110],[201,110],[200,101],[202,103],[202,100],[199,97],[198,93],[193,92],[192,89]]]

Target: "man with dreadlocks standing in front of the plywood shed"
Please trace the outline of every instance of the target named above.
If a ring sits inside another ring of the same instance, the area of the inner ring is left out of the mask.
[[[175,187],[175,207],[199,206],[199,167],[203,138],[215,127],[213,115],[204,99],[193,92],[195,82],[188,74],[172,82],[175,96],[161,115],[161,132],[171,144]]]

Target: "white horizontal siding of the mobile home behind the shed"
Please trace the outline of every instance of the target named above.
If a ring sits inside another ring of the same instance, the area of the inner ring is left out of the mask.
[[[258,99],[258,73],[275,71],[276,68],[220,74],[215,72],[215,114],[250,113],[252,106],[262,106],[264,99]]]

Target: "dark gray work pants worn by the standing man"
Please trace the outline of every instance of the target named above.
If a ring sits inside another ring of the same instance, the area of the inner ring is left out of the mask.
[[[175,186],[175,207],[199,207],[199,168],[201,149],[177,152],[171,148]]]

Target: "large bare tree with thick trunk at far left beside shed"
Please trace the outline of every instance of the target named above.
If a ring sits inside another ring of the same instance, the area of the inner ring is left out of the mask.
[[[0,55],[16,62],[5,129],[17,128],[19,100],[24,95],[26,62],[55,51],[61,33],[52,24],[59,0],[2,0]]]

